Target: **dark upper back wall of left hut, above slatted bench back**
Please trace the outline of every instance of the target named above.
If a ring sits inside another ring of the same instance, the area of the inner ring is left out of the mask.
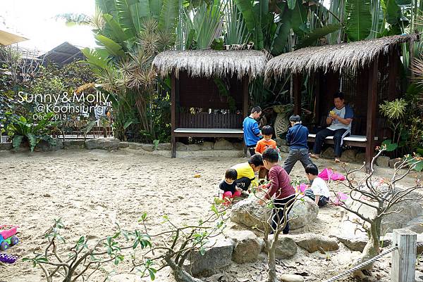
[[[236,77],[231,77],[229,84],[229,92],[235,99],[235,108],[242,110],[243,84]],[[180,107],[229,110],[228,97],[219,93],[219,89],[212,78],[190,77],[187,72],[181,72],[179,89]]]

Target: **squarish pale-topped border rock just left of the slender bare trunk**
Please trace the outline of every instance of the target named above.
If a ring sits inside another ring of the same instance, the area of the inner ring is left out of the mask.
[[[238,264],[257,261],[262,252],[262,243],[252,231],[227,231],[226,238],[233,240],[232,260]]]

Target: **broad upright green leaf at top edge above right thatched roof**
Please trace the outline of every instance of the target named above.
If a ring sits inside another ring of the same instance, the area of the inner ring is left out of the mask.
[[[372,29],[370,0],[347,0],[345,4],[345,33],[351,41],[364,40]]]

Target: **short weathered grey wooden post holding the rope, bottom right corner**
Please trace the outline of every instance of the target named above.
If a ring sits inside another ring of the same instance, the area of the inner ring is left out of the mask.
[[[394,229],[391,282],[414,282],[416,267],[417,234],[408,229]]]

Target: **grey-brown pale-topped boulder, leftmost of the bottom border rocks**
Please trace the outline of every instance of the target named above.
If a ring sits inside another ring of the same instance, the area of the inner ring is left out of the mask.
[[[211,276],[216,271],[231,264],[233,252],[233,241],[231,239],[217,236],[211,238],[205,245],[204,255],[195,251],[188,255],[190,261],[185,262],[185,270],[193,276]]]

